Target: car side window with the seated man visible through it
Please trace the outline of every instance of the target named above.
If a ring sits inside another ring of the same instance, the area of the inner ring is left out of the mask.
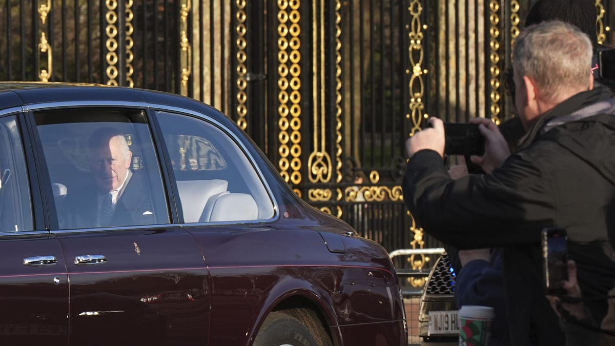
[[[169,223],[145,111],[34,113],[61,229]]]

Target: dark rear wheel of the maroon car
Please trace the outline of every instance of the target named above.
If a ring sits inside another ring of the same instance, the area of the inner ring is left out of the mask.
[[[272,312],[256,334],[253,346],[319,346],[306,326],[293,316]]]

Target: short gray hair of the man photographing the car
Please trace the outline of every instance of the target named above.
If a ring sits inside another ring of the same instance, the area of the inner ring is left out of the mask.
[[[531,25],[515,41],[513,66],[552,100],[566,89],[589,88],[592,42],[579,28],[554,20]]]

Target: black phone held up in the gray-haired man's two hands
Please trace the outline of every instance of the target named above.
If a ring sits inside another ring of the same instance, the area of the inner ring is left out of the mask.
[[[478,124],[444,123],[446,155],[483,155],[485,137],[478,131]]]

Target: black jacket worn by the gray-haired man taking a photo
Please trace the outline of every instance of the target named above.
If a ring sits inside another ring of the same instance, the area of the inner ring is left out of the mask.
[[[542,228],[568,230],[585,296],[613,287],[615,267],[600,246],[615,235],[614,113],[606,88],[574,95],[543,115],[490,175],[452,180],[431,150],[408,161],[403,197],[419,226],[459,248],[504,247],[512,345],[563,344],[542,289]],[[605,309],[604,300],[590,307],[598,320]]]

